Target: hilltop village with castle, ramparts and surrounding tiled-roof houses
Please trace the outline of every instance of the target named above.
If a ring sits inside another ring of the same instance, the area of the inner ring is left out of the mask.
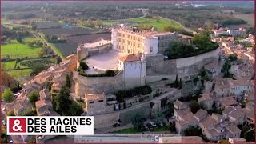
[[[246,141],[243,125],[247,132],[254,129],[254,49],[234,40],[244,29],[212,30],[209,39],[198,29],[194,35],[206,38],[203,46],[200,38],[158,32],[154,26],[139,30],[121,23],[111,29],[111,40],[81,42],[77,54],[27,79],[6,111],[22,115],[34,107],[38,116],[93,115],[95,134],[134,127],[140,134],[166,126],[166,134],[202,130],[206,142]],[[254,36],[241,41],[254,42]],[[191,53],[177,53],[178,46]],[[40,97],[33,106],[34,90]],[[71,113],[67,107],[62,111],[67,101],[54,100],[65,94]],[[142,121],[138,125],[136,118]],[[37,142],[51,138],[38,136]]]

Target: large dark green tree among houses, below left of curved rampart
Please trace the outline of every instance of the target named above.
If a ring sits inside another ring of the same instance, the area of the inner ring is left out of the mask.
[[[62,86],[59,94],[54,97],[54,109],[61,115],[67,115],[72,101],[70,99],[70,90],[66,86]]]

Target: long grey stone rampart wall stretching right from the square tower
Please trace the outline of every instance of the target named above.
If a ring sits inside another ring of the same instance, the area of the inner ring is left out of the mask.
[[[164,55],[146,57],[146,82],[160,81],[162,78],[186,79],[191,75],[198,74],[206,64],[218,59],[220,49],[212,50],[205,54],[194,57],[165,60]],[[169,75],[169,76],[168,76]]]

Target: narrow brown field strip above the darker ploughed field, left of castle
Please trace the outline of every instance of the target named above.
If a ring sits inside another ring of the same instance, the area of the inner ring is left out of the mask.
[[[74,28],[42,29],[41,32],[45,35],[78,35],[78,34],[97,33],[98,30],[94,30],[86,27],[74,27]]]

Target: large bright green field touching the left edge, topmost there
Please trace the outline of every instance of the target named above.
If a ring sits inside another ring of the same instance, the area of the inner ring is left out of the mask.
[[[10,55],[11,58],[24,58],[28,56],[36,58],[40,49],[39,47],[30,47],[17,41],[12,41],[10,44],[1,46],[1,56]]]

